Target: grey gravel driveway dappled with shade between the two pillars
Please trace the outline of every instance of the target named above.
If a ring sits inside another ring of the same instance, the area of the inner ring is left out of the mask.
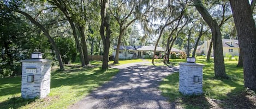
[[[142,65],[144,63],[149,62],[111,66],[120,72],[70,108],[171,108],[158,85],[177,69]]]

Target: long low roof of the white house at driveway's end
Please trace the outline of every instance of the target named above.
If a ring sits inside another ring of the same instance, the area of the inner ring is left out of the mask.
[[[116,46],[114,46],[116,49]],[[120,46],[120,50],[145,50],[145,51],[153,51],[154,46]],[[156,51],[164,52],[165,50],[162,47],[157,47]],[[180,50],[172,47],[171,52],[181,52]]]

